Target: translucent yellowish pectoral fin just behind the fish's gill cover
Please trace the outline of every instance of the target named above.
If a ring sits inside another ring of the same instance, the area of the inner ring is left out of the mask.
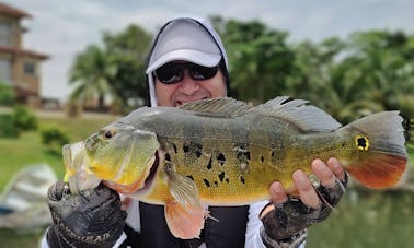
[[[202,209],[196,184],[188,177],[182,176],[171,167],[165,168],[169,177],[170,193],[183,206],[191,205]]]

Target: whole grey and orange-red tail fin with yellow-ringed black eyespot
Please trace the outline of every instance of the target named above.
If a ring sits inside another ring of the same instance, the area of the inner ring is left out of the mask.
[[[343,128],[350,127],[360,131],[354,137],[360,160],[345,163],[344,166],[366,187],[388,188],[402,177],[407,162],[402,122],[399,111],[382,111]]]

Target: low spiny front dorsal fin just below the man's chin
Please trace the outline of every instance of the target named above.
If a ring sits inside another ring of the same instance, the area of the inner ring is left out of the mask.
[[[195,111],[200,116],[234,117],[245,114],[252,107],[231,97],[221,97],[188,103],[179,108]]]

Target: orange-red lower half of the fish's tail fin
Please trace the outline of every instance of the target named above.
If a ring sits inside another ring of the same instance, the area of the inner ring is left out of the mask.
[[[384,189],[399,182],[406,161],[406,157],[400,155],[373,153],[358,164],[346,166],[346,169],[364,186]]]

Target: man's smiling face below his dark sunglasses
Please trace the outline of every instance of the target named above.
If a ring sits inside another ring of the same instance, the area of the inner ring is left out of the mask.
[[[208,80],[194,80],[188,70],[184,70],[183,80],[173,84],[165,84],[156,78],[156,94],[159,106],[177,107],[205,98],[223,97],[227,94],[226,80],[221,70]]]

